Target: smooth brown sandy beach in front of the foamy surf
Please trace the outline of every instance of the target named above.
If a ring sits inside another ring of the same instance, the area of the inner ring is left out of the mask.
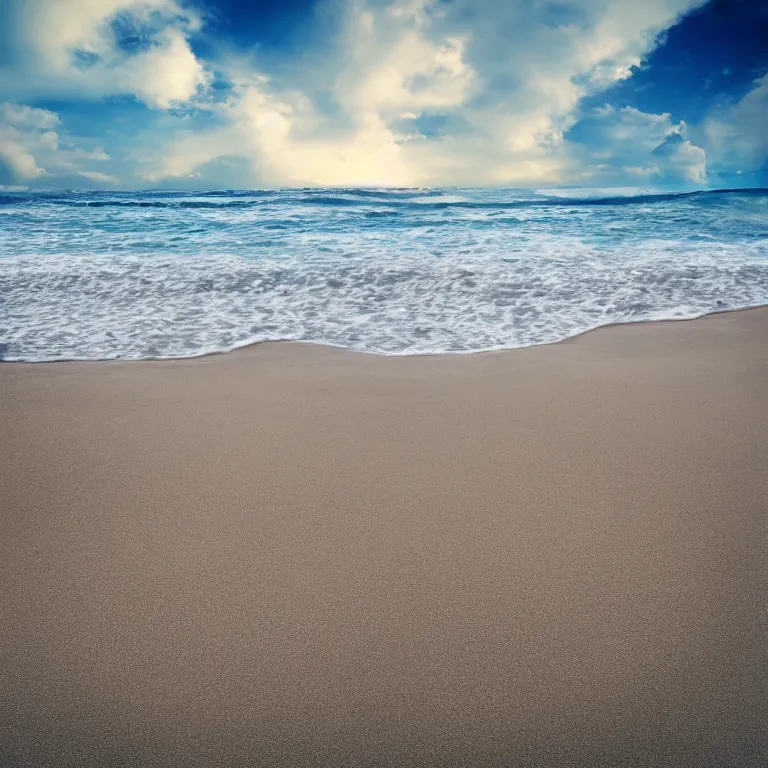
[[[0,365],[0,766],[765,766],[768,311]]]

